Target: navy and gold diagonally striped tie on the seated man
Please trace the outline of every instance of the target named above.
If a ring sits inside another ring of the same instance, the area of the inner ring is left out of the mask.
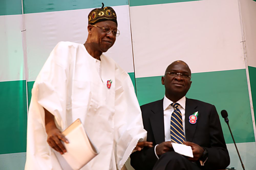
[[[183,141],[185,141],[185,136],[182,124],[182,114],[178,108],[179,103],[172,103],[171,105],[174,107],[174,112],[171,116],[171,141],[183,144]]]

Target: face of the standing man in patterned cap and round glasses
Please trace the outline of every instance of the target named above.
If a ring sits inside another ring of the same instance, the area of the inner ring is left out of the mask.
[[[115,36],[111,31],[110,34],[106,34],[101,28],[110,28],[111,30],[117,30],[117,25],[113,21],[102,21],[94,24],[98,27],[88,26],[88,31],[91,33],[91,43],[93,46],[103,52],[106,52],[115,43]],[[91,28],[90,28],[91,27]],[[101,27],[101,28],[99,28]]]

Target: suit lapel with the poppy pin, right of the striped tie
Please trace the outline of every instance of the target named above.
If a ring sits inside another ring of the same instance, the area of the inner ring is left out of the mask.
[[[186,132],[186,140],[190,142],[192,142],[194,138],[196,127],[200,119],[200,114],[199,114],[197,116],[197,122],[195,124],[189,123],[189,116],[197,111],[196,108],[197,108],[197,104],[193,100],[186,98],[185,132]]]

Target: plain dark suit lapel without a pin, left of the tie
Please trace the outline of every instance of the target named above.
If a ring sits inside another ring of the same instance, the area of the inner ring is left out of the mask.
[[[153,114],[150,116],[150,123],[156,144],[164,142],[164,109],[163,99],[158,100],[151,109]]]

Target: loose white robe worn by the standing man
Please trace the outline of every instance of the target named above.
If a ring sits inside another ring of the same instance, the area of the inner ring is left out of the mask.
[[[81,119],[99,150],[84,170],[121,169],[137,142],[146,140],[129,75],[111,58],[100,59],[101,77],[83,44],[60,42],[52,50],[32,89],[25,169],[61,169],[47,143],[43,107],[61,131]]]

